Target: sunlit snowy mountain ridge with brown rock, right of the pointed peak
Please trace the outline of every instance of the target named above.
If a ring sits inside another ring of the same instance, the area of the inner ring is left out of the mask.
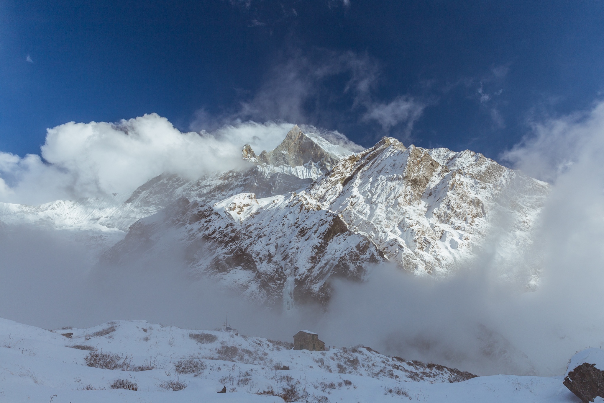
[[[344,158],[306,192],[403,268],[446,274],[474,256],[497,214],[512,217],[514,242],[530,243],[548,185],[480,153],[406,148],[383,138]]]

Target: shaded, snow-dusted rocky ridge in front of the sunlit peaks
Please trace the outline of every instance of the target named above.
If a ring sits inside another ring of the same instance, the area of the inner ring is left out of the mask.
[[[256,199],[237,195],[218,207],[181,198],[137,221],[100,259],[127,266],[182,245],[191,276],[206,274],[271,305],[329,301],[329,280],[361,280],[382,261],[367,237],[352,233],[338,214],[294,193]]]

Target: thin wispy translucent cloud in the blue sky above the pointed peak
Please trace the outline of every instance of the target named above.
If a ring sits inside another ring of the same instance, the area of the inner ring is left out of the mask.
[[[269,71],[254,95],[240,102],[239,108],[222,115],[200,109],[190,129],[199,131],[245,120],[338,121],[342,114],[334,118],[333,111],[344,106],[345,119],[352,124],[374,122],[384,133],[399,127],[397,132],[408,137],[430,102],[408,94],[380,100],[376,94],[381,73],[381,63],[367,53],[316,50],[303,54],[296,50]]]

